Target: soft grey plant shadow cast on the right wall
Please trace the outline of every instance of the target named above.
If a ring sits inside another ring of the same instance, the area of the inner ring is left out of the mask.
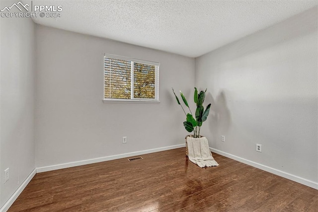
[[[221,134],[228,132],[231,125],[231,114],[227,106],[226,96],[222,90],[216,99],[214,100],[211,93],[208,94],[208,101],[211,102],[211,109],[209,115],[210,131],[212,136],[216,137]],[[211,117],[210,117],[211,116]],[[213,140],[215,140],[214,138]]]

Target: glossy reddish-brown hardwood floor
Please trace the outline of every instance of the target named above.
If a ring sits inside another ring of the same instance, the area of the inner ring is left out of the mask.
[[[318,190],[213,153],[185,148],[38,173],[9,212],[317,212]]]

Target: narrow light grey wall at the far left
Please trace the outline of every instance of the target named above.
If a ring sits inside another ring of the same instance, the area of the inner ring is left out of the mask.
[[[0,8],[16,1],[0,1]],[[0,208],[35,168],[35,24],[0,18]],[[9,180],[4,182],[4,169]]]

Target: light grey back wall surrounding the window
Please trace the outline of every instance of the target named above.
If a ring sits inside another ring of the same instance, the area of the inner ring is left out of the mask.
[[[37,167],[184,143],[171,87],[192,92],[194,59],[41,25],[36,35]],[[159,62],[160,103],[103,103],[104,53]]]

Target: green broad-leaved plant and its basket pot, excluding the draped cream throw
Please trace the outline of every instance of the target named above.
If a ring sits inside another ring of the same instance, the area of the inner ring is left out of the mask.
[[[183,93],[180,91],[180,95],[181,95],[181,98],[183,100],[183,103],[189,109],[190,113],[185,112],[182,104],[179,101],[179,98],[177,97],[177,95],[175,94],[175,92],[172,88],[172,91],[173,91],[173,94],[177,100],[177,103],[181,106],[181,108],[186,116],[186,121],[183,122],[183,126],[185,127],[186,131],[188,131],[190,133],[193,132],[193,135],[188,135],[185,137],[185,139],[186,139],[186,155],[188,155],[187,140],[189,137],[197,139],[198,142],[200,142],[201,138],[206,139],[205,137],[200,135],[201,126],[202,126],[203,122],[205,122],[207,120],[207,117],[208,117],[209,112],[210,112],[210,107],[211,107],[211,104],[208,104],[205,110],[203,107],[203,102],[205,99],[206,90],[207,89],[205,89],[205,91],[201,90],[198,93],[197,88],[196,87],[194,88],[193,100],[194,100],[194,103],[196,103],[195,118],[194,118],[192,111],[191,111],[191,109],[188,105],[188,102],[187,102],[186,98],[184,97]]]

